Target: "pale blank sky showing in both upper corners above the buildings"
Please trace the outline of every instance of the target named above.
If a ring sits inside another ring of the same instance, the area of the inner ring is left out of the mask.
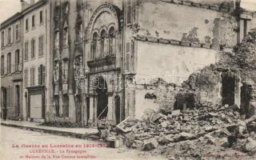
[[[241,0],[241,6],[246,10],[256,11],[256,0]],[[20,0],[0,0],[0,23],[20,10]]]

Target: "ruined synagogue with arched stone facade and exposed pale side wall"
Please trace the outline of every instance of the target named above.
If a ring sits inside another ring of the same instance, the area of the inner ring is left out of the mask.
[[[224,49],[242,42],[256,24],[256,14],[238,0],[52,0],[49,5],[44,119],[83,126],[97,119],[116,124],[142,118],[147,109],[173,105],[171,93],[182,85],[199,90],[184,81],[221,62]],[[218,87],[201,90],[199,101],[217,95],[220,103],[240,105],[242,78],[220,75]]]

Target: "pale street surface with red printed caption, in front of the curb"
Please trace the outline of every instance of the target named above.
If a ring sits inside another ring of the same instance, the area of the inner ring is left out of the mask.
[[[19,159],[95,159],[134,160],[166,159],[141,150],[106,148],[104,143],[44,134],[0,126],[1,160]],[[68,147],[67,147],[68,146]],[[90,147],[89,147],[90,146]]]

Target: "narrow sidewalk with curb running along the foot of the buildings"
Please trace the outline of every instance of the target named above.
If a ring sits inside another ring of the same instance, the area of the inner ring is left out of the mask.
[[[93,141],[99,142],[99,137],[97,134],[78,134],[78,133],[67,132],[62,130],[49,130],[44,128],[31,127],[31,126],[19,126],[14,124],[7,124],[4,122],[1,122],[1,126],[10,126],[10,127],[19,128],[22,130],[32,130],[32,131],[37,131],[37,132],[46,133],[46,134],[54,134],[54,135],[59,135],[64,137],[80,138],[80,139],[93,140]]]

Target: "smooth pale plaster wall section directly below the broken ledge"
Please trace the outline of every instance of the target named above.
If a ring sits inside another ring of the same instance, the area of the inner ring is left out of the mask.
[[[136,83],[163,78],[177,85],[218,59],[218,50],[138,42]]]

